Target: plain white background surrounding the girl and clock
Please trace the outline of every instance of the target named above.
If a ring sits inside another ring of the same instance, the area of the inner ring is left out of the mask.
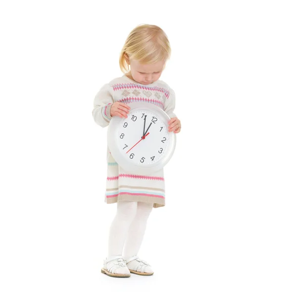
[[[296,292],[295,4],[1,1],[0,290]],[[116,279],[92,110],[142,23],[168,35],[183,127],[139,253],[155,273]]]

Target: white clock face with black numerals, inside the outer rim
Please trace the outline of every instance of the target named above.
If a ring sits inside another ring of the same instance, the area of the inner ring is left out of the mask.
[[[170,133],[162,115],[149,109],[130,110],[117,129],[117,146],[121,154],[135,165],[159,162],[168,152]]]

